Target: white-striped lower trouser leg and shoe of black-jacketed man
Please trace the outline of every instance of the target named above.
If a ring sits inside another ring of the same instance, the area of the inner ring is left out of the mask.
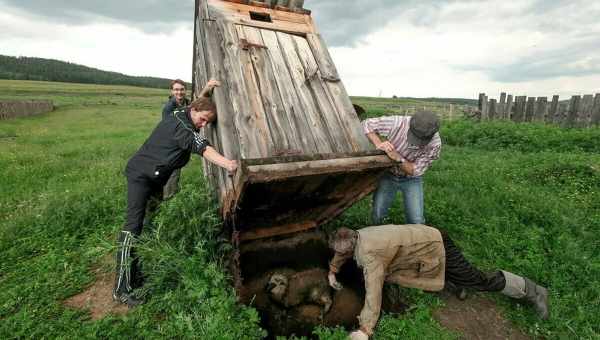
[[[143,303],[142,300],[133,295],[132,274],[135,271],[137,261],[132,260],[132,248],[134,236],[129,231],[119,233],[119,249],[116,255],[116,275],[113,287],[113,300],[126,304],[129,308]]]

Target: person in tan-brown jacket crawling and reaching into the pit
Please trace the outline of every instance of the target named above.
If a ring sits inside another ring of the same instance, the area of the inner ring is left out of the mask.
[[[335,274],[351,257],[362,267],[365,304],[360,329],[352,339],[368,339],[379,319],[384,282],[440,291],[445,286],[500,291],[531,302],[542,319],[548,317],[548,291],[507,271],[485,274],[467,261],[446,233],[422,224],[382,225],[357,231],[340,228],[329,240],[335,255],[329,265],[329,284],[340,289]]]

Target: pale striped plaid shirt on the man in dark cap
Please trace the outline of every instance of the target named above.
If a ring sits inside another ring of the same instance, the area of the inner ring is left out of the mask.
[[[440,157],[442,140],[440,134],[436,133],[429,144],[421,147],[409,145],[407,134],[410,119],[409,116],[369,118],[362,123],[363,131],[365,134],[375,132],[386,137],[400,156],[409,162],[415,163],[415,173],[413,176],[408,177],[419,177],[425,173],[434,160]],[[392,172],[398,176],[406,176],[399,167],[394,167]]]

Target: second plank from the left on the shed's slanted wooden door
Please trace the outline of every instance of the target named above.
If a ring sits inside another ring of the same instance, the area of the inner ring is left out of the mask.
[[[291,126],[289,138],[302,150],[301,153],[316,150],[317,145],[314,136],[302,109],[302,104],[300,104],[298,94],[292,85],[293,80],[279,46],[277,34],[273,31],[261,30],[261,35],[269,53],[273,73],[277,75],[275,82],[277,83],[277,89],[285,108],[286,118]]]

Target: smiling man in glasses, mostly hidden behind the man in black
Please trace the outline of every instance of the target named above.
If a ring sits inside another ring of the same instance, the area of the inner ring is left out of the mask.
[[[210,98],[212,95],[212,91],[215,87],[220,86],[221,84],[214,79],[208,81],[202,92],[200,92],[201,97]],[[189,99],[186,97],[186,85],[185,82],[181,79],[175,79],[171,82],[171,95],[169,96],[169,100],[163,107],[162,119],[173,114],[174,111],[183,110],[187,106],[190,105]],[[173,171],[171,177],[165,184],[163,189],[163,199],[168,200],[171,197],[175,196],[177,192],[179,192],[179,177],[181,175],[181,170],[177,169]]]

